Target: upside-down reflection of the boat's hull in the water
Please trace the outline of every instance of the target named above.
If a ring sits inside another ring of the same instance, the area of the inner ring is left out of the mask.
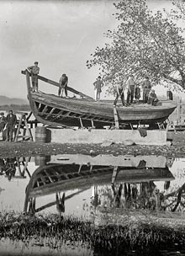
[[[146,159],[148,158],[146,157]],[[103,162],[92,165],[86,161],[84,163],[80,161],[79,163],[68,164],[50,162],[34,171],[29,180],[27,192],[29,190],[29,197],[37,197],[59,191],[84,189],[94,184],[111,184],[113,179],[116,182],[124,183],[174,179],[172,173],[163,163],[161,163],[161,168],[160,163],[158,163],[157,168],[153,166],[150,168],[149,163],[146,162],[147,160],[145,161],[145,156],[142,157],[140,163],[135,162],[136,166],[132,160],[132,158],[129,158],[125,166],[108,165],[106,163],[107,159],[105,159],[104,165]],[[123,163],[125,163],[124,158]]]

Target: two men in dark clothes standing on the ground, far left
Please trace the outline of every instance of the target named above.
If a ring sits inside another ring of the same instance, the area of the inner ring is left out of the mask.
[[[17,116],[13,114],[13,110],[9,110],[5,117],[4,113],[0,113],[0,131],[6,127],[6,141],[13,141],[13,131],[17,123]]]

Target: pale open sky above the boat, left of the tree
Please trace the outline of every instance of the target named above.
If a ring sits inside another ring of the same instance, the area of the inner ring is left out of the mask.
[[[87,69],[86,61],[106,42],[103,33],[117,28],[115,2],[0,0],[0,95],[26,99],[21,70],[39,61],[41,76],[59,81],[66,73],[70,87],[93,97],[98,67]],[[148,5],[154,11],[171,6],[167,0],[148,0]],[[39,86],[57,93],[47,83]]]

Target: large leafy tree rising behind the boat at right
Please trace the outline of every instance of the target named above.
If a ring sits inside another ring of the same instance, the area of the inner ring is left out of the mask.
[[[166,81],[185,88],[184,29],[165,12],[152,13],[145,0],[114,3],[119,26],[108,30],[109,43],[96,48],[87,67],[99,65],[108,92],[133,74],[138,83],[145,75],[153,83]]]

